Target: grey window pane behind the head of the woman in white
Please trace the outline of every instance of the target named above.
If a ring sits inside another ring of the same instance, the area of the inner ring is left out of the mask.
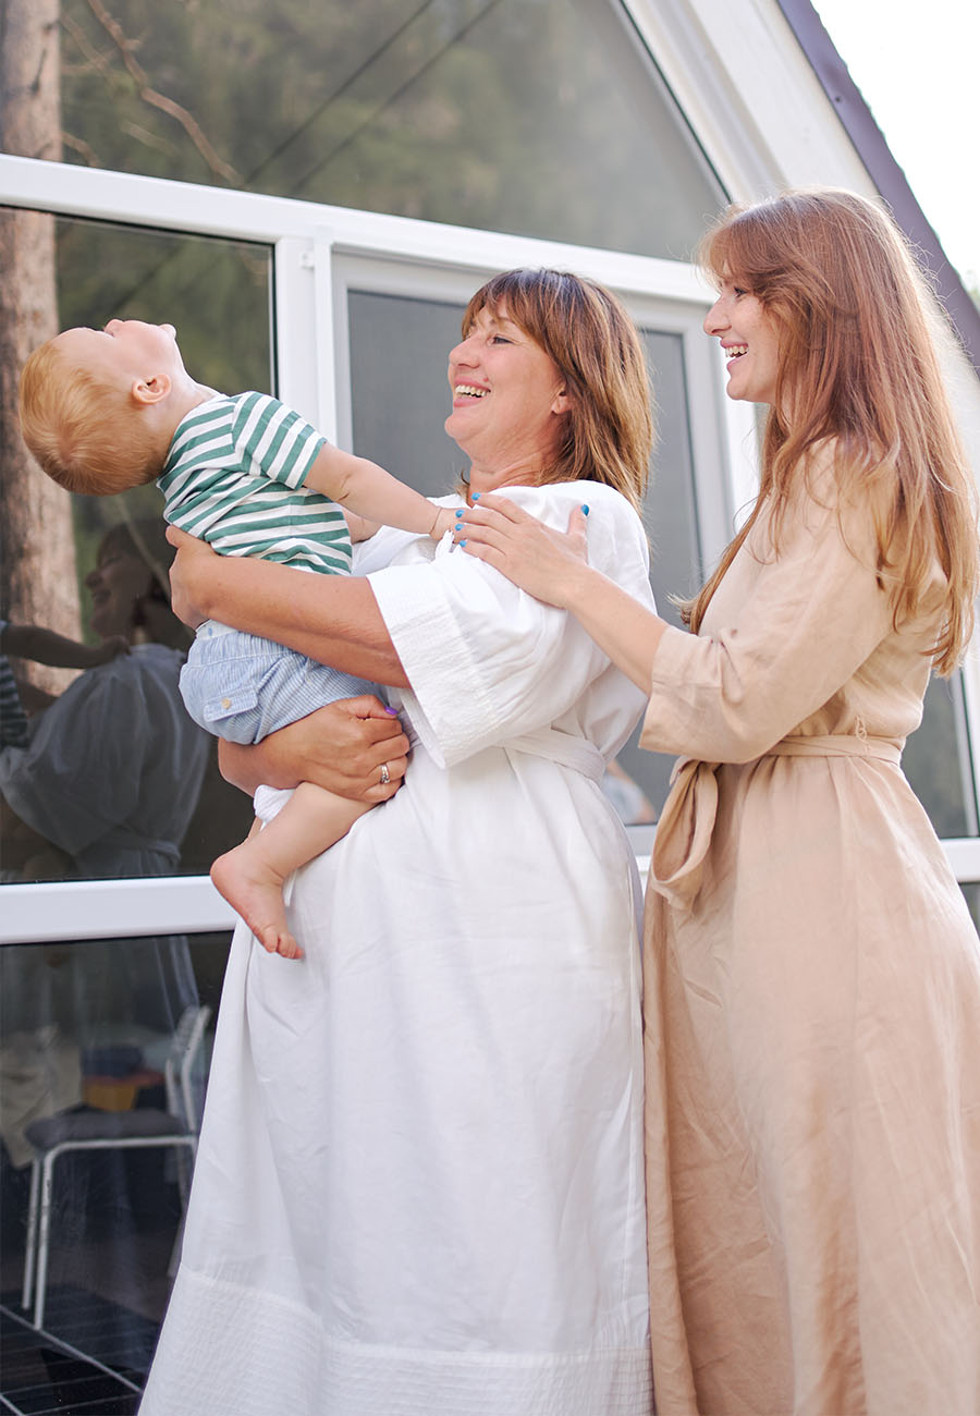
[[[354,449],[391,467],[428,496],[452,491],[466,459],[442,429],[449,412],[446,355],[459,340],[463,306],[348,293]],[[643,331],[659,406],[660,442],[644,507],[651,541],[651,573],[661,613],[678,623],[671,593],[698,581],[700,549],[694,508],[694,470],[678,334]],[[377,396],[384,370],[385,396]],[[606,782],[609,796],[630,824],[653,820],[667,794],[671,760],[642,752],[633,739]]]

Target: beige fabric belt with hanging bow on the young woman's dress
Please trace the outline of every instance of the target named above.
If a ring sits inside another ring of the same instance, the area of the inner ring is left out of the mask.
[[[826,738],[783,738],[763,758],[877,758],[898,765],[902,749],[891,738],[858,738],[843,733]],[[690,909],[701,889],[704,858],[718,813],[721,763],[680,758],[671,789],[657,823],[650,857],[650,889],[671,905]]]

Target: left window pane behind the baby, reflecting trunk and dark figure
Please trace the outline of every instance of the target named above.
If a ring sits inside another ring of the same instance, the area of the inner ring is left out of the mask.
[[[188,370],[208,387],[270,388],[268,248],[35,212],[0,221],[14,242],[40,222],[50,245],[33,279],[0,290],[13,331],[7,398],[33,344],[112,316],[176,324]],[[177,692],[190,636],[166,599],[171,551],[156,487],[68,497],[13,442],[3,479],[0,617],[92,649],[133,637],[132,653],[81,673],[45,668],[40,653],[11,660],[33,716],[30,743],[0,750],[3,879],[205,871],[251,813]],[[51,497],[42,514],[38,496]]]

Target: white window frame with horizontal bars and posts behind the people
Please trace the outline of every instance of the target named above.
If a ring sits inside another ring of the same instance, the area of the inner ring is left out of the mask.
[[[753,494],[753,411],[724,396],[721,361],[700,330],[711,295],[690,265],[3,154],[0,205],[272,246],[278,391],[341,445],[350,445],[351,285],[465,299],[496,270],[578,270],[615,289],[640,323],[683,337],[707,562],[727,542],[732,511]],[[966,678],[974,742],[977,687],[974,668]],[[943,844],[957,878],[980,881],[980,840]],[[0,943],[198,933],[234,923],[204,877],[4,885],[0,901]]]

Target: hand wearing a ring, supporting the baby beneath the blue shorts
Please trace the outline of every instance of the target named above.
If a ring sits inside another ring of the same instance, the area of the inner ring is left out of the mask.
[[[341,698],[253,746],[222,742],[221,772],[251,794],[261,783],[314,782],[353,801],[387,801],[402,784],[409,742],[394,709],[371,694]]]

